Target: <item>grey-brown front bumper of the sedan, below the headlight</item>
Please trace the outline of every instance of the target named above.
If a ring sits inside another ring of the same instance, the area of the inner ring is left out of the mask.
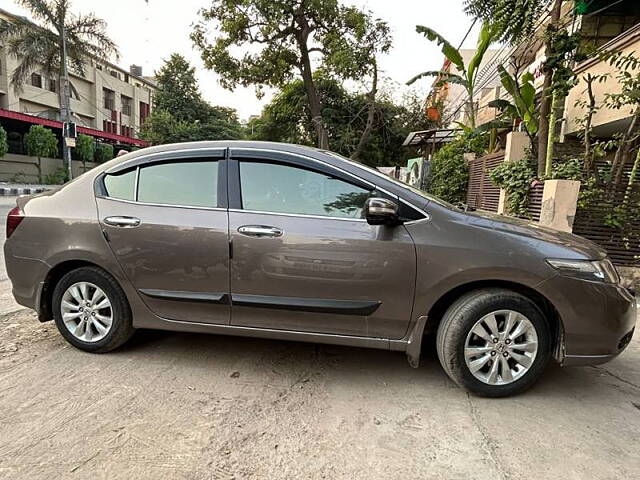
[[[637,321],[634,295],[620,285],[555,276],[539,286],[562,322],[562,365],[597,365],[622,353]]]

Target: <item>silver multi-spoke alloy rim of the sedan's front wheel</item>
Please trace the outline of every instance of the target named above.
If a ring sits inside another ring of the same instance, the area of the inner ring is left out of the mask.
[[[464,358],[471,374],[489,385],[507,385],[525,375],[538,353],[533,323],[514,310],[497,310],[469,331]]]

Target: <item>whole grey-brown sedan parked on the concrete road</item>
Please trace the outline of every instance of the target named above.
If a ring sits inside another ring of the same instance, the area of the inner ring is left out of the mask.
[[[331,152],[261,142],[140,150],[7,219],[16,300],[75,347],[137,328],[406,352],[519,393],[550,358],[610,360],[636,312],[580,237],[461,211]]]

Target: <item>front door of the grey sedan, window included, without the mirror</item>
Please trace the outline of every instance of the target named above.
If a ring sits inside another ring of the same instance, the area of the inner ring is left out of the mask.
[[[310,158],[232,149],[232,325],[401,338],[411,318],[414,244],[371,226],[375,187]]]

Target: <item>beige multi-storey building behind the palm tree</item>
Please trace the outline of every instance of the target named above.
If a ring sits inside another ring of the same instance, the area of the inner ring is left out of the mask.
[[[0,9],[0,19],[19,18]],[[0,123],[8,132],[25,133],[32,124],[51,127],[59,133],[60,82],[42,71],[34,71],[21,92],[11,85],[18,60],[0,46]],[[138,138],[149,116],[156,85],[142,76],[141,67],[125,70],[114,64],[88,58],[85,75],[69,72],[71,110],[78,131],[121,147],[145,146]],[[15,152],[20,153],[20,152]]]

